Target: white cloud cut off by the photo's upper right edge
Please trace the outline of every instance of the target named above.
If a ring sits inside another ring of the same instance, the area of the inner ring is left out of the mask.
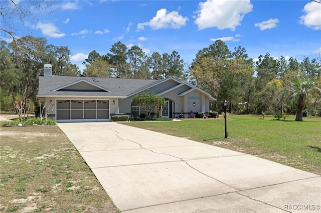
[[[321,3],[308,2],[305,4],[303,11],[305,14],[300,17],[299,23],[312,29],[321,29]]]

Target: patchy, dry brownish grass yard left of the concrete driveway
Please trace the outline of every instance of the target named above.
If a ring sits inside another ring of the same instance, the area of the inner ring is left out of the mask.
[[[1,212],[119,212],[58,126],[1,127]]]

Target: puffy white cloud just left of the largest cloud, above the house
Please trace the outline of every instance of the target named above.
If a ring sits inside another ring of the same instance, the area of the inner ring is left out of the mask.
[[[150,26],[152,29],[179,29],[186,25],[186,21],[188,21],[188,17],[183,17],[178,11],[168,12],[167,9],[162,8],[148,22],[138,23],[136,31],[143,30],[144,26]]]

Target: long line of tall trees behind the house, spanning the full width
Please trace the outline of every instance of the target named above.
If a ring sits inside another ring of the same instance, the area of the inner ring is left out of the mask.
[[[187,80],[218,99],[210,105],[215,111],[222,110],[226,99],[230,112],[295,114],[303,96],[302,110],[321,113],[320,58],[304,57],[299,62],[293,57],[274,58],[266,53],[253,62],[245,47],[231,51],[224,41],[217,40],[199,50],[187,64],[176,50],[147,56],[139,46],[127,48],[118,41],[104,55],[92,50],[83,61],[81,73],[70,62],[67,46],[48,44],[45,38],[33,36],[11,43],[1,41],[0,54],[2,110],[12,106],[10,99],[36,101],[38,76],[43,73],[43,65],[51,63],[54,75]]]

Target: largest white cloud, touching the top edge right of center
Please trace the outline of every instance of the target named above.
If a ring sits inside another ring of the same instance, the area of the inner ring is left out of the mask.
[[[199,30],[217,27],[234,31],[252,8],[250,0],[207,0],[199,3],[195,23]]]

